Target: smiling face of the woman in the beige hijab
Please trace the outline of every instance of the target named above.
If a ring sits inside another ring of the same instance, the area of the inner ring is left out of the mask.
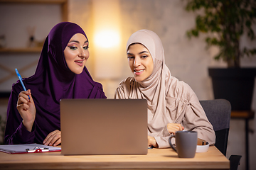
[[[153,58],[144,45],[130,45],[127,50],[127,58],[136,81],[144,81],[152,74],[154,69]]]

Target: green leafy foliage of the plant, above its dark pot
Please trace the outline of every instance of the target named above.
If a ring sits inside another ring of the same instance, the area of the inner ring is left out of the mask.
[[[216,45],[220,49],[215,60],[222,58],[228,67],[240,67],[240,57],[256,54],[256,48],[240,47],[244,33],[255,40],[252,29],[256,18],[255,0],[188,0],[186,11],[201,13],[196,17],[196,28],[187,31],[188,38],[198,37],[200,32],[210,33],[206,38],[207,47]]]

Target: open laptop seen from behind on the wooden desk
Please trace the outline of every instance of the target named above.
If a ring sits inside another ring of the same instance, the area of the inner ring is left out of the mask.
[[[61,154],[147,154],[145,99],[61,99]]]

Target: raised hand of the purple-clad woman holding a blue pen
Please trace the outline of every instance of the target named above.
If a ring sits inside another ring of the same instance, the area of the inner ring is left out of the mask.
[[[31,132],[36,118],[36,107],[31,96],[31,90],[21,91],[18,94],[17,109],[23,119],[22,123],[26,127],[26,130]]]

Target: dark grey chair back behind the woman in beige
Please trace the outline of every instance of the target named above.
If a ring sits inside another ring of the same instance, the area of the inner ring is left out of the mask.
[[[203,110],[215,131],[215,147],[226,156],[230,128],[230,102],[225,99],[200,101]]]

